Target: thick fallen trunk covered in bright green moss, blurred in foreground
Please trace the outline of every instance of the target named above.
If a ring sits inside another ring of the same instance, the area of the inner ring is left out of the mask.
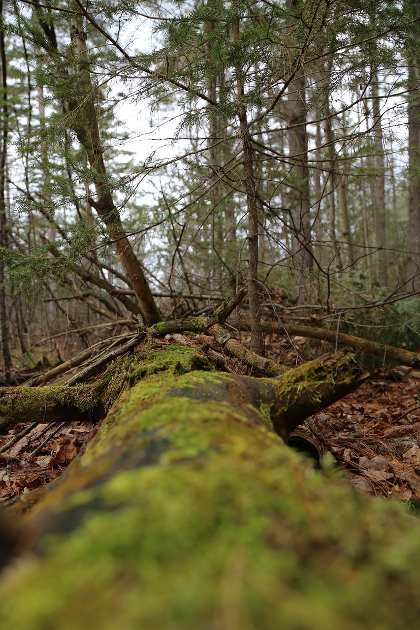
[[[26,520],[2,630],[418,627],[417,521],[284,445],[281,381],[214,372],[185,347],[142,358]]]

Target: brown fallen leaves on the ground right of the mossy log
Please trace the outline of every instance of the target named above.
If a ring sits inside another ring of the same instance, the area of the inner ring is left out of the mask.
[[[419,370],[404,381],[370,381],[307,421],[348,483],[368,495],[420,501]]]

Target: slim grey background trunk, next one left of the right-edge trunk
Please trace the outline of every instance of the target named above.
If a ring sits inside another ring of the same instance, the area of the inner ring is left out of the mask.
[[[383,155],[383,133],[380,113],[380,98],[378,89],[378,71],[372,67],[372,111],[373,111],[373,134],[375,154],[373,156],[373,167],[375,173],[370,181],[371,202],[373,210],[373,226],[375,246],[383,248],[387,245],[386,216],[385,216],[385,159]],[[386,251],[376,253],[378,260],[378,281],[381,287],[388,285],[388,268]]]

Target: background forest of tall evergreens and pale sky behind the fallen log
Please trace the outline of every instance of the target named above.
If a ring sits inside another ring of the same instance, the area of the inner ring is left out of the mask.
[[[417,9],[2,4],[4,380],[243,286],[260,354],[261,318],[415,350]]]

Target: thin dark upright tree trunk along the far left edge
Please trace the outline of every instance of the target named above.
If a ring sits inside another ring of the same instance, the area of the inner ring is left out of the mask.
[[[0,16],[3,19],[3,0],[0,0]],[[6,156],[8,146],[8,84],[7,84],[7,61],[6,50],[4,48],[4,30],[0,29],[0,56],[1,56],[1,74],[3,87],[3,107],[2,107],[2,137],[0,152],[0,246],[7,246],[6,234],[6,200],[5,200],[5,181],[6,181]],[[0,283],[4,282],[4,258],[0,253]],[[8,318],[6,313],[6,289],[0,289],[0,336],[1,336],[1,353],[3,355],[4,364],[4,381],[10,381],[11,358],[9,351],[9,332]]]

